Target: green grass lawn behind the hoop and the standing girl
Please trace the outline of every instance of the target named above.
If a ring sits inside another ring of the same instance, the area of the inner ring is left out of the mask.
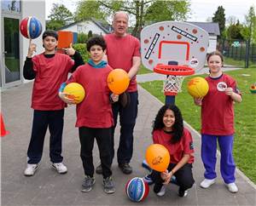
[[[256,68],[247,68],[226,73],[236,79],[238,88],[242,94],[241,104],[235,105],[236,134],[233,152],[236,166],[250,180],[256,183],[256,94],[251,94],[249,90],[251,84],[256,82]],[[201,75],[200,77],[205,76]],[[194,101],[186,89],[187,82],[190,78],[186,77],[184,79],[183,92],[177,94],[175,103],[181,109],[184,120],[200,132],[201,107],[194,105]],[[140,85],[160,101],[165,102],[165,96],[162,93],[162,81],[140,83]]]

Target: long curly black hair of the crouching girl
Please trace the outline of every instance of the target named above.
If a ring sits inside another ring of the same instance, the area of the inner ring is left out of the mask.
[[[156,129],[163,129],[165,127],[165,124],[163,123],[163,117],[165,115],[166,110],[172,110],[172,112],[174,113],[175,123],[172,126],[173,137],[172,137],[171,143],[175,144],[181,140],[183,136],[183,129],[184,129],[182,113],[180,112],[178,107],[175,105],[165,105],[160,108],[159,112],[154,118],[152,133]]]

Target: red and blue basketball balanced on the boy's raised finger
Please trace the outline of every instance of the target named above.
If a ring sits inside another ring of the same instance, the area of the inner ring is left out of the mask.
[[[42,32],[41,22],[33,16],[28,16],[20,22],[20,32],[23,37],[37,38]]]

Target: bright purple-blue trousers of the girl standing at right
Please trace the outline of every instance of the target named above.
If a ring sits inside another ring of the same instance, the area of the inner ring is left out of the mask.
[[[220,149],[220,173],[226,184],[235,182],[236,165],[233,158],[233,135],[201,134],[201,159],[205,166],[205,178],[212,180],[217,177],[215,165],[217,161],[217,140]]]

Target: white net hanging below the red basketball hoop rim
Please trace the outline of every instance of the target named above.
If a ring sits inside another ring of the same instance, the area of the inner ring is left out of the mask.
[[[165,94],[177,94],[182,91],[184,76],[168,75],[164,81],[164,93]]]

